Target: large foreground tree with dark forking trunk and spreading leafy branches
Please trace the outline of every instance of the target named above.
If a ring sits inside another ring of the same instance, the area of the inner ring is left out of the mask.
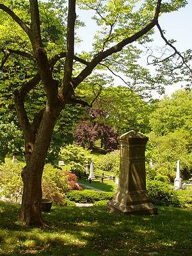
[[[77,86],[86,83],[96,68],[118,70],[122,61],[121,69],[124,70],[125,64],[131,63],[132,54],[137,52],[136,46],[131,44],[145,44],[150,40],[153,28],[156,25],[159,28],[159,14],[178,10],[186,4],[184,0],[78,1],[81,7],[95,12],[94,19],[102,30],[95,36],[94,51],[77,56],[74,52],[74,44],[79,43],[75,35],[78,24],[76,0],[68,0],[67,15],[63,2],[52,0],[50,5],[37,0],[4,0],[0,4],[1,77],[4,83],[12,79],[12,83],[7,84],[10,92],[14,92],[15,108],[25,140],[26,166],[22,171],[24,190],[20,220],[26,225],[43,223],[42,173],[61,110],[68,102],[87,104],[77,97]],[[54,68],[60,79],[55,76]],[[137,72],[134,68],[132,70],[134,72],[125,68],[127,76],[134,74],[131,76],[134,80]],[[45,104],[44,100],[42,104],[36,104],[36,115],[31,119],[27,106],[35,90],[44,90]]]

